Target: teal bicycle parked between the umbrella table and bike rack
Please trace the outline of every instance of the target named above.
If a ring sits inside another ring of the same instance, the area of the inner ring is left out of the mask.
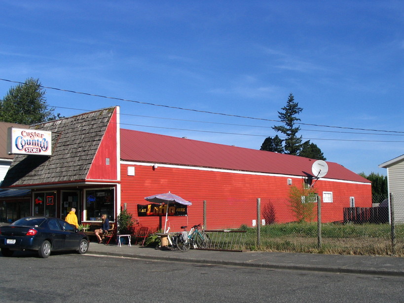
[[[200,224],[194,225],[189,230],[189,233],[186,232],[186,226],[182,226],[184,229],[183,232],[177,234],[176,246],[182,252],[189,250],[192,246],[193,248],[208,248],[210,245],[210,239],[203,227]]]

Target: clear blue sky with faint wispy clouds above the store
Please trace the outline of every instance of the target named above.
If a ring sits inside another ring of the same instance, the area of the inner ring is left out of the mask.
[[[403,1],[2,0],[0,8],[1,79],[129,100],[48,88],[56,113],[119,105],[123,128],[259,149],[282,135],[271,126],[293,93],[309,124],[299,134],[328,161],[385,175],[378,164],[404,154]],[[0,97],[15,85],[0,80]]]

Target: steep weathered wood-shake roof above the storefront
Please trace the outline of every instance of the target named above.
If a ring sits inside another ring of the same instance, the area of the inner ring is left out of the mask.
[[[15,155],[1,187],[85,180],[114,110],[31,126],[52,132],[52,156]]]

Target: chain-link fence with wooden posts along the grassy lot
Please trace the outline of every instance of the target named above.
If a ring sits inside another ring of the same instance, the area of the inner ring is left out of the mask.
[[[404,194],[193,200],[186,220],[244,230],[244,249],[404,256]]]

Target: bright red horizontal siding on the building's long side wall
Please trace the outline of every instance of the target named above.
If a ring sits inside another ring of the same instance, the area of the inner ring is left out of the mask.
[[[127,176],[127,167],[135,166],[135,176]],[[232,218],[233,226],[240,227],[245,222],[252,222],[256,219],[256,199],[266,198],[273,203],[276,209],[276,222],[294,221],[287,202],[290,186],[287,179],[290,177],[246,175],[231,172],[202,171],[196,169],[182,169],[170,167],[158,167],[153,170],[151,165],[121,165],[121,203],[127,203],[127,209],[133,214],[137,214],[137,204],[147,204],[144,197],[151,194],[171,191],[180,195],[186,200],[190,200],[193,205],[188,207],[188,214],[202,218],[202,201],[208,200],[211,203],[220,201],[220,208],[225,212],[228,209],[237,208],[237,203],[243,199],[243,209],[245,201],[251,205],[247,209],[251,212],[238,212]],[[301,177],[293,178],[293,184],[299,185]],[[349,207],[349,197],[361,197],[357,200],[357,206],[371,206],[371,186],[370,184],[352,184],[342,182],[332,182],[319,180],[315,188],[319,195],[323,191],[333,192],[333,203],[324,205],[324,222],[343,220],[343,207]],[[223,227],[223,220],[229,220],[228,216],[220,212],[212,212],[210,209],[218,209],[208,203],[209,228]],[[140,218],[141,223],[146,226],[155,227],[158,218]],[[189,224],[198,224],[192,222]],[[172,228],[179,229],[184,224],[184,218],[170,218]],[[178,225],[178,226],[177,226]]]

